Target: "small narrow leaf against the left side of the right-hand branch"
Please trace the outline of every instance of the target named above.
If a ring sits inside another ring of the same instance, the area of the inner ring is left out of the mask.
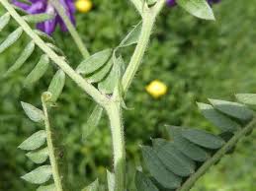
[[[122,40],[119,47],[125,47],[137,43],[142,28],[142,22],[139,22],[127,36]]]

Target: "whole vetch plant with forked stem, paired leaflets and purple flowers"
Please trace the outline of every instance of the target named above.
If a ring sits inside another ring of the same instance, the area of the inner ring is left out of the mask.
[[[177,0],[177,4],[192,15],[214,20],[211,4],[218,1]],[[136,74],[147,46],[155,21],[164,8],[165,0],[130,0],[141,16],[141,21],[114,48],[89,54],[80,35],[74,28],[73,2],[71,0],[8,1],[0,0],[6,13],[0,17],[0,32],[13,19],[17,29],[11,32],[0,44],[0,53],[13,45],[25,33],[30,41],[16,62],[5,73],[5,78],[20,69],[34,53],[35,48],[42,52],[38,63],[27,76],[24,85],[32,86],[41,80],[48,67],[53,65],[56,73],[47,90],[42,95],[42,106],[22,102],[28,117],[44,127],[25,140],[19,148],[28,151],[26,156],[38,164],[31,172],[22,176],[28,182],[38,184],[38,191],[65,190],[63,176],[59,170],[57,148],[53,142],[52,127],[48,111],[61,96],[65,78],[70,78],[85,94],[95,101],[95,108],[88,119],[83,139],[90,136],[106,112],[110,121],[113,142],[113,172],[108,171],[108,185],[100,186],[95,180],[84,191],[130,190],[126,183],[126,144],[124,134],[123,110],[127,109],[125,100],[128,89]],[[32,11],[33,10],[33,11]],[[34,24],[38,29],[34,30]],[[56,24],[68,30],[81,53],[81,62],[73,69],[65,54],[55,45],[48,34],[54,31]],[[122,49],[136,44],[128,65],[122,56]],[[211,132],[167,125],[169,139],[153,139],[152,146],[141,146],[146,169],[138,170],[134,183],[138,191],[190,190],[195,182],[226,154],[231,154],[235,145],[255,127],[253,108],[256,95],[236,95],[238,102],[209,99],[209,103],[198,103],[203,115],[217,128],[218,134]],[[67,135],[68,136],[68,135]],[[48,159],[48,161],[47,161]],[[51,179],[52,177],[52,179]]]

